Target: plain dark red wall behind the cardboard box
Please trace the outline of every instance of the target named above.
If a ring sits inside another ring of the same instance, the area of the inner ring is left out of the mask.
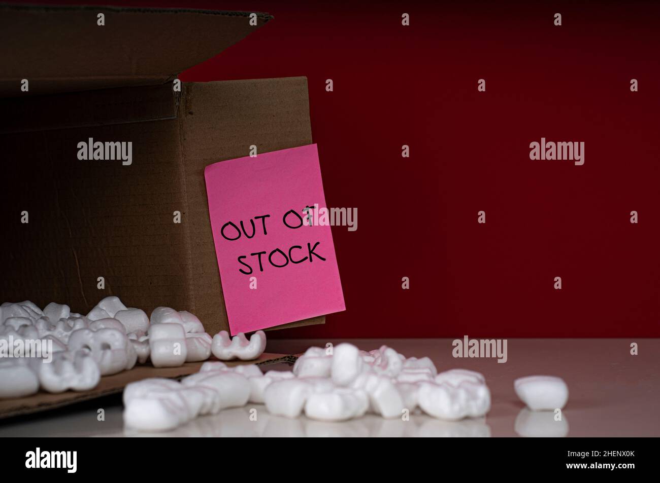
[[[84,3],[275,16],[180,76],[307,76],[327,203],[358,208],[346,312],[274,337],[660,336],[657,5]],[[531,161],[542,136],[585,164]]]

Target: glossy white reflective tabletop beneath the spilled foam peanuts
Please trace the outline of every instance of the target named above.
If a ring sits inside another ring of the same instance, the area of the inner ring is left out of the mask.
[[[452,339],[352,339],[360,349],[389,345],[405,356],[429,356],[438,371],[477,370],[486,377],[492,407],[485,418],[444,422],[423,414],[410,420],[367,415],[348,422],[271,416],[263,405],[203,416],[172,432],[124,430],[121,396],[0,420],[0,436],[660,436],[660,339],[508,339],[508,361],[453,358]],[[301,353],[344,340],[271,340],[271,353]],[[630,355],[636,342],[639,355]],[[290,370],[278,364],[266,370]],[[552,412],[531,412],[513,392],[521,376],[560,376],[570,396],[561,422]],[[97,418],[104,410],[104,420]],[[256,412],[251,411],[255,409]],[[256,420],[251,420],[256,414]]]

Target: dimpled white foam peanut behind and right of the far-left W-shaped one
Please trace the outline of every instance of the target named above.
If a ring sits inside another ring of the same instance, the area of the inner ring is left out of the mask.
[[[79,329],[69,337],[69,351],[85,350],[92,355],[102,376],[135,366],[137,354],[128,337],[117,329]]]

